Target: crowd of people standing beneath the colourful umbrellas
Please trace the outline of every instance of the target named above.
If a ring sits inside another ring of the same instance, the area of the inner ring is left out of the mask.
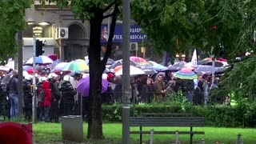
[[[0,87],[0,114],[5,118],[16,118],[18,116],[18,71],[10,70],[10,80],[7,84],[1,82]],[[63,115],[80,114],[82,101],[82,114],[86,117],[89,110],[89,98],[79,97],[76,87],[78,81],[86,74],[54,74],[40,71],[36,78],[38,96],[38,120],[44,122],[58,122]],[[32,99],[34,89],[32,85],[33,76],[23,75],[23,111],[25,118],[31,120]],[[88,76],[88,75],[87,75]],[[122,76],[114,73],[103,74],[108,82],[106,92],[102,93],[102,103],[113,104],[122,102]],[[3,80],[2,78],[1,80]],[[166,70],[165,73],[153,75],[136,75],[130,77],[130,102],[150,103],[175,101],[179,91],[188,102],[194,105],[207,105],[209,100],[208,91],[218,86],[218,78],[211,83],[207,74],[198,75],[193,80],[175,78],[174,73]],[[43,94],[43,100],[41,95]]]

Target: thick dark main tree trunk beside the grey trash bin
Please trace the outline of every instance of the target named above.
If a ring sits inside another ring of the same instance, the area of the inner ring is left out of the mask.
[[[94,18],[90,18],[90,48],[89,66],[90,66],[90,110],[87,138],[102,139],[102,68],[101,68],[101,25],[102,12],[95,10]]]

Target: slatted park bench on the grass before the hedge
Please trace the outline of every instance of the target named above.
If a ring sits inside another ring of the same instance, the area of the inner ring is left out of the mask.
[[[152,130],[142,130],[142,127],[154,126],[181,126],[190,127],[187,131],[166,130],[154,131],[154,134],[190,134],[190,143],[193,141],[194,134],[205,134],[204,131],[193,131],[193,127],[204,126],[203,117],[193,117],[191,114],[177,113],[142,113],[139,117],[130,117],[130,126],[138,126],[139,130],[130,130],[130,134],[140,134],[140,143],[142,143],[142,134],[151,134]]]

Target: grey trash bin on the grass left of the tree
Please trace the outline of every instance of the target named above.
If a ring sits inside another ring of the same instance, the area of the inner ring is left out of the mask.
[[[81,115],[62,116],[62,140],[83,142],[83,126]]]

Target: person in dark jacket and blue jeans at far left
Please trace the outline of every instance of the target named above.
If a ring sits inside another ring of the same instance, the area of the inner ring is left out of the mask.
[[[9,84],[10,118],[18,116],[18,70],[14,70]]]

